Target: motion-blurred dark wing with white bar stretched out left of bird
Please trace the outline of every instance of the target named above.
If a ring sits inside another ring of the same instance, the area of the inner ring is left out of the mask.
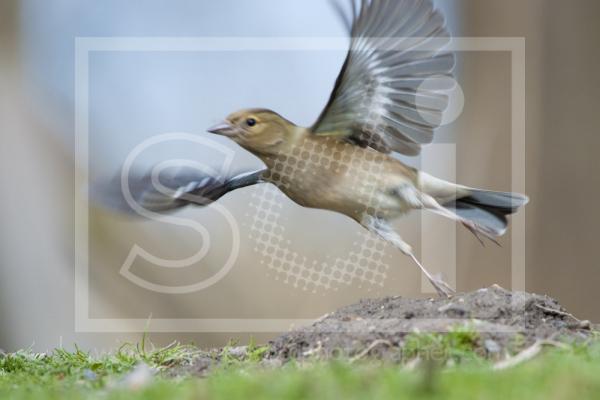
[[[150,174],[129,177],[129,191],[140,207],[157,213],[175,211],[188,205],[206,206],[225,194],[261,182],[264,171],[250,171],[222,179],[203,174],[193,168],[181,168],[175,173],[160,177],[159,190]],[[121,179],[92,185],[92,200],[113,211],[135,214],[121,190]]]

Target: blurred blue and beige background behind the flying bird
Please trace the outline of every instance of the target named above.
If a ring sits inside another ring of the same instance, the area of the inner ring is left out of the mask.
[[[526,289],[557,298],[579,318],[600,321],[600,213],[595,210],[600,171],[594,157],[600,148],[600,3],[440,0],[437,5],[455,36],[525,38],[526,192],[532,199],[526,208]],[[347,33],[324,0],[0,2],[0,348],[45,350],[77,343],[108,349],[140,338],[135,332],[139,324],[129,326],[128,320],[148,320],[152,331],[152,319],[312,319],[363,297],[427,295],[410,260],[387,247],[383,286],[313,291],[286,283],[261,264],[255,249],[252,199],[263,189],[254,187],[219,201],[239,225],[237,261],[215,285],[190,294],[148,291],[119,269],[134,244],[164,258],[189,257],[202,240],[197,232],[92,207],[87,213],[85,310],[89,318],[123,321],[119,326],[127,332],[76,330],[75,210],[85,203],[84,177],[110,179],[135,146],[167,132],[187,132],[226,146],[235,154],[233,170],[260,166],[225,139],[210,137],[206,127],[252,106],[275,109],[298,124],[312,123],[327,101],[344,52],[92,52],[89,163],[79,165],[74,158],[75,39],[295,36]],[[452,157],[438,157],[435,146],[411,163],[431,172],[453,171],[466,185],[510,190],[510,67],[508,52],[459,54],[464,110],[436,138],[456,144],[456,164]],[[154,149],[139,168],[171,158],[218,161],[206,148],[179,143]],[[345,257],[361,240],[361,228],[343,217],[280,201],[291,252],[327,262]],[[186,209],[178,216],[202,222],[211,235],[211,250],[197,268],[175,274],[135,264],[145,279],[173,285],[205,279],[231,248],[223,216],[213,208]],[[397,224],[417,249],[421,226],[419,215]],[[429,229],[456,228],[436,220]],[[503,247],[483,248],[466,230],[456,229],[451,260],[456,274],[450,281],[460,291],[494,283],[510,287],[510,238],[502,239]],[[434,257],[432,262],[437,264],[432,269],[444,270],[444,260]],[[215,346],[230,338],[265,341],[274,335],[237,330],[163,332],[151,338],[158,344],[180,340]]]

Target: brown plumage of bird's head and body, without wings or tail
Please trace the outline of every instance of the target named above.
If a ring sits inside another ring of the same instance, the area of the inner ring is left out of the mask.
[[[230,128],[215,131],[258,156],[268,168],[262,179],[302,206],[336,211],[357,222],[366,212],[391,219],[410,208],[394,190],[416,186],[418,172],[387,154],[335,133],[317,136],[268,110],[240,111],[227,121]]]

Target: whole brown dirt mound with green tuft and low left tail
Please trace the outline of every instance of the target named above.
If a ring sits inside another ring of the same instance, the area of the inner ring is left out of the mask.
[[[528,353],[543,343],[562,346],[585,341],[597,328],[569,314],[550,297],[499,286],[451,299],[387,297],[341,308],[310,326],[283,334],[268,348],[239,346],[201,352],[189,365],[172,368],[168,375],[204,376],[215,366],[248,360],[267,368],[291,359],[338,357],[412,362],[435,356],[427,349],[432,343],[444,362],[454,357],[449,352],[456,355],[461,349],[466,350],[462,354],[506,361],[511,354],[524,349]]]

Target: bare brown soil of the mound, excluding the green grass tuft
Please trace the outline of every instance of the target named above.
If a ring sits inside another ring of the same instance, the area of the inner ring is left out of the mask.
[[[578,320],[550,297],[493,286],[451,299],[362,300],[280,336],[270,343],[269,357],[394,359],[409,335],[455,332],[457,327],[476,332],[482,351],[498,354],[539,340],[577,341],[591,334],[588,321]]]

